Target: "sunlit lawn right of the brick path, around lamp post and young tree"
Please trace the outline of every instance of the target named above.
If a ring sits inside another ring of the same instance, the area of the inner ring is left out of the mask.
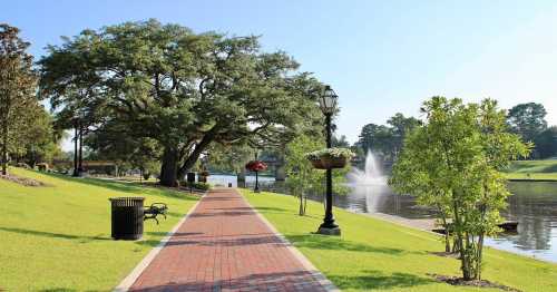
[[[343,291],[477,291],[432,281],[428,273],[459,275],[455,259],[432,255],[439,236],[363,215],[335,210],[342,236],[311,234],[322,221],[323,206],[309,203],[297,216],[295,197],[242,191],[276,228]],[[483,278],[524,291],[557,291],[557,265],[488,250]],[[481,289],[481,291],[498,291]]]

